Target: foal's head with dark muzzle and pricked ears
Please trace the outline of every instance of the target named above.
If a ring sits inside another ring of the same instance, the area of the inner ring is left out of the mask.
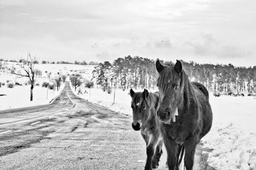
[[[143,92],[134,92],[130,90],[130,95],[132,97],[132,128],[135,131],[140,131],[141,125],[144,120],[148,117],[149,106],[148,106],[148,90],[144,89]]]

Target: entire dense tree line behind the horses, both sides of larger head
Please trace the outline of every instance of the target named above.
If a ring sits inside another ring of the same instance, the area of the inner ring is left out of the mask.
[[[163,61],[163,64],[173,64]],[[198,81],[213,92],[255,92],[256,66],[236,67],[232,64],[199,64],[181,60],[182,67],[189,80]],[[156,60],[130,55],[99,63],[93,70],[97,86],[102,89],[117,87],[120,89],[154,89],[156,87]]]

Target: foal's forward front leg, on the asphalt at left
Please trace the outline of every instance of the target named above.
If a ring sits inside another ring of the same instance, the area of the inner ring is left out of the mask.
[[[156,144],[158,138],[154,138],[152,134],[149,136],[149,143],[147,145],[147,162],[145,165],[145,169],[152,169],[152,159],[156,150]]]

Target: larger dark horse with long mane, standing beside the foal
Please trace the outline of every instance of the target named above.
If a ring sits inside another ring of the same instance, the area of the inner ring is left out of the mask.
[[[179,169],[178,159],[183,149],[185,167],[193,169],[196,145],[212,125],[209,93],[204,85],[189,81],[179,60],[175,66],[164,66],[157,60],[156,69],[159,73],[157,116],[162,121],[168,167]]]

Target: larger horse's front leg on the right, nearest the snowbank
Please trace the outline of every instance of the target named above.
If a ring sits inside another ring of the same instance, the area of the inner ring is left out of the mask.
[[[193,169],[196,144],[197,144],[197,138],[192,138],[186,141],[185,143],[184,164],[187,170]]]

